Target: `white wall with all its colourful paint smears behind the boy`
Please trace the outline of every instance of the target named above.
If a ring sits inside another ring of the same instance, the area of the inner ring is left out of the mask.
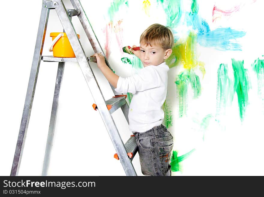
[[[260,0],[81,1],[111,67],[120,76],[142,68],[123,46],[139,46],[151,24],[170,26],[173,54],[166,61],[168,91],[164,125],[174,137],[173,175],[264,175],[264,40]],[[1,175],[9,175],[35,48],[41,1],[25,12],[17,1],[1,32]],[[72,9],[69,1],[65,7]],[[7,10],[4,10],[7,12]],[[6,13],[7,14],[7,13]],[[93,54],[77,18],[76,32],[87,56]],[[50,32],[62,26],[51,10]],[[8,37],[7,37],[8,36]],[[107,80],[91,63],[105,99]],[[57,63],[41,62],[19,175],[41,175],[55,87]],[[128,94],[128,102],[133,95]],[[49,175],[125,175],[77,63],[66,63],[61,86]],[[113,114],[122,139],[130,132],[121,109]],[[139,158],[133,165],[138,175]]]

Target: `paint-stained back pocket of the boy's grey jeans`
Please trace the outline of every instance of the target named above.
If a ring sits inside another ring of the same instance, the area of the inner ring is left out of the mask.
[[[161,171],[167,172],[170,162],[170,153],[172,151],[173,144],[170,146],[161,146],[159,147],[159,157],[161,163]]]

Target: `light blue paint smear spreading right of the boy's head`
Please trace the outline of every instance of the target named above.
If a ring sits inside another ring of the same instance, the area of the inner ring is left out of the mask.
[[[246,32],[228,28],[210,30],[208,23],[196,13],[186,13],[187,26],[197,30],[197,43],[204,47],[213,47],[220,51],[241,51],[241,45],[235,39],[243,37]]]

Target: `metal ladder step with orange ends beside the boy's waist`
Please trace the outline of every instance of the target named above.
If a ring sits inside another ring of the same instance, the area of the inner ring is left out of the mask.
[[[127,95],[122,94],[122,95],[115,95],[111,99],[105,101],[107,105],[107,109],[109,110],[110,114],[115,112],[119,107],[125,105],[126,98],[127,98]],[[94,110],[98,109],[95,103],[93,104],[93,108]]]

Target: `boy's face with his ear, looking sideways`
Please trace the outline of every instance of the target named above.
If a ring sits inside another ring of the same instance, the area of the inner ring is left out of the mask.
[[[171,54],[172,49],[164,50],[160,45],[148,45],[140,43],[140,60],[144,67],[158,66]]]

